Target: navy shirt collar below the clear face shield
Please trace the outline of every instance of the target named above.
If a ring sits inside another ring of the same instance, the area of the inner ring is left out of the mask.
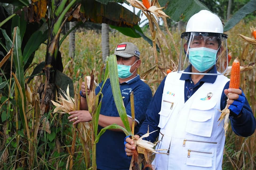
[[[184,71],[191,72],[190,64]],[[214,65],[207,73],[217,73],[216,65]],[[217,75],[204,75],[200,82],[214,83]],[[180,80],[191,80],[191,74],[182,73]]]

